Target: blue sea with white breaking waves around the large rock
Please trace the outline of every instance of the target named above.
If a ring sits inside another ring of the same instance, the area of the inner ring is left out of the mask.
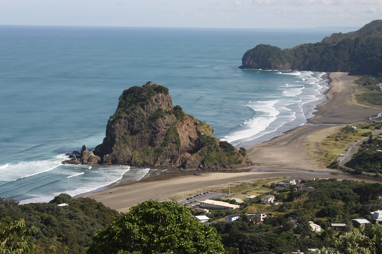
[[[47,202],[165,169],[68,166],[65,154],[105,137],[123,90],[147,81],[237,147],[302,125],[324,73],[241,70],[257,44],[319,42],[329,29],[0,26],[0,197]]]

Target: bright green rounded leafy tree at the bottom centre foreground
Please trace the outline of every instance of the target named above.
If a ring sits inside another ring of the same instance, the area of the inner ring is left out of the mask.
[[[191,218],[186,206],[145,201],[93,238],[88,253],[227,253],[214,227]]]

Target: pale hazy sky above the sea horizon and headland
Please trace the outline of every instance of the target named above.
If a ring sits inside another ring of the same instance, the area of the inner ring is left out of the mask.
[[[309,28],[382,19],[382,0],[0,0],[2,25]]]

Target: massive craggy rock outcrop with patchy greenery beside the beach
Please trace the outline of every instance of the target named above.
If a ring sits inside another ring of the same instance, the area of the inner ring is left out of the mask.
[[[102,144],[93,152],[85,146],[78,158],[64,163],[182,169],[250,166],[245,149],[237,150],[227,141],[216,139],[213,131],[210,125],[189,116],[180,106],[173,106],[166,87],[147,82],[142,87],[123,91],[115,114],[108,120]],[[82,154],[89,158],[84,159]]]

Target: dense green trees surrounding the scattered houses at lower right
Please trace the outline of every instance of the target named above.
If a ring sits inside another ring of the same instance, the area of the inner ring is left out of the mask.
[[[222,243],[231,254],[236,254],[237,248],[240,254],[282,254],[296,252],[298,249],[307,252],[308,248],[335,248],[338,246],[336,240],[348,238],[346,233],[353,230],[352,219],[365,218],[375,222],[369,212],[382,208],[379,199],[382,185],[379,183],[328,179],[304,185],[315,190],[311,193],[295,191],[296,186],[292,185],[280,191],[272,191],[272,195],[283,202],[277,206],[263,206],[259,204],[258,197],[245,201],[235,211],[211,211],[208,214],[210,221],[231,214],[242,216],[232,223],[217,222],[210,226],[221,234]],[[254,223],[245,215],[248,211],[264,211],[267,214],[264,223]],[[296,220],[297,227],[291,219]],[[312,231],[309,221],[320,225],[322,230]],[[335,231],[330,223],[346,223],[349,227]],[[365,228],[368,231],[370,226]],[[345,236],[341,238],[342,235]]]

